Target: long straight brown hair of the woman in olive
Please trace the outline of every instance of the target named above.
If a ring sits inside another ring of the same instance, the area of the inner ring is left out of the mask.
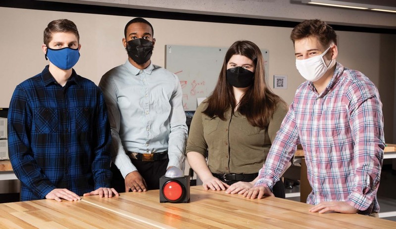
[[[228,49],[216,87],[208,97],[207,107],[203,113],[209,117],[218,116],[221,120],[225,120],[224,113],[228,109],[234,113],[237,104],[233,88],[226,81],[226,71],[230,58],[238,54],[253,60],[256,66],[253,84],[242,96],[238,111],[246,116],[250,125],[264,129],[268,126],[277,103],[281,102],[285,106],[287,105],[282,98],[267,87],[264,76],[264,58],[258,46],[250,41],[237,41]]]

